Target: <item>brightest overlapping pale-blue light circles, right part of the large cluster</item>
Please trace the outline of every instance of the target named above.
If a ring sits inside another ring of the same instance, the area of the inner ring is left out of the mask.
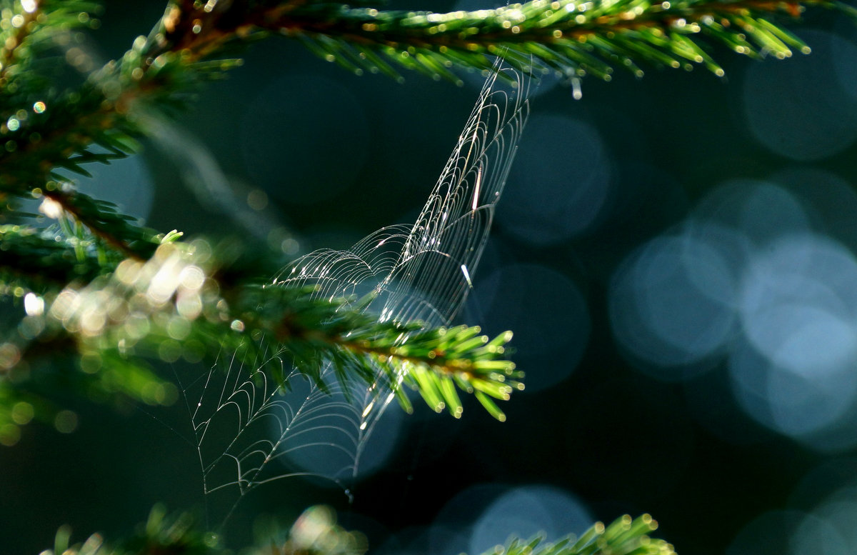
[[[854,283],[853,254],[814,234],[782,236],[749,260],[739,301],[746,343],[728,367],[753,419],[813,445],[847,416],[857,393]]]

